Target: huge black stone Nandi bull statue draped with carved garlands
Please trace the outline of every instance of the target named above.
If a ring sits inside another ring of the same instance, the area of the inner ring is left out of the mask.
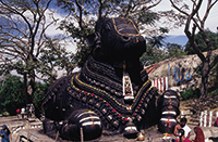
[[[179,98],[174,91],[159,95],[152,87],[140,61],[146,43],[136,24],[100,18],[87,43],[92,55],[82,70],[57,80],[45,98],[45,132],[56,129],[64,140],[80,140],[81,134],[93,140],[134,137],[158,124],[160,132],[172,133]]]

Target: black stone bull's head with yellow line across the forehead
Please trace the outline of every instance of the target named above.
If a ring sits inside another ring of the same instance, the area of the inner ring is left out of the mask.
[[[100,18],[95,34],[87,38],[93,56],[104,61],[138,60],[146,50],[145,39],[135,23],[129,18]]]

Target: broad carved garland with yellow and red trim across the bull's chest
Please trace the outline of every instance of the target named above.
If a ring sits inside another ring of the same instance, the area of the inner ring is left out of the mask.
[[[92,61],[93,59],[88,60],[88,62]],[[119,124],[128,122],[130,119],[133,121],[141,121],[142,116],[146,113],[149,100],[153,98],[152,82],[147,80],[141,87],[131,105],[122,104],[118,101],[114,92],[112,94],[111,90],[106,89],[107,86],[102,86],[102,83],[95,83],[94,86],[88,83],[88,81],[85,81],[97,79],[95,82],[108,82],[107,85],[109,86],[116,83],[116,81],[111,78],[107,78],[99,74],[90,72],[89,66],[87,65],[88,63],[85,64],[85,69],[83,69],[82,73],[75,74],[72,77],[71,88],[68,88],[68,92],[71,94],[71,96],[83,103],[95,106],[95,109],[98,109],[109,122],[112,121],[112,126],[114,128],[118,128]],[[110,68],[107,65],[104,65],[104,67]],[[88,78],[86,78],[85,76],[88,76]],[[119,83],[117,82],[117,85]],[[116,88],[116,86],[113,88]]]

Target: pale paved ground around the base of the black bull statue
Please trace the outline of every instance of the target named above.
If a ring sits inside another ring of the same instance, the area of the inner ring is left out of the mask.
[[[32,121],[27,121],[26,119],[21,119],[15,116],[12,117],[0,117],[0,125],[5,124],[10,130],[12,131],[12,142],[19,142],[21,135],[28,137],[34,142],[55,142],[56,133],[51,133],[49,135],[44,134],[41,121],[38,119],[33,119]],[[195,126],[190,125],[192,128],[190,140],[194,139],[195,134],[193,132],[193,128]],[[203,127],[203,131],[205,133],[205,138],[209,137],[218,137],[218,128],[215,127]],[[153,127],[145,131],[145,140],[144,142],[148,142],[148,138],[152,139],[149,142],[167,142],[164,141],[164,134],[157,131],[157,127]],[[171,138],[174,138],[173,135]],[[118,135],[101,135],[100,138],[89,141],[89,142],[135,142],[136,139],[126,139],[122,134]],[[57,142],[66,142],[57,139]],[[215,141],[216,142],[216,141]]]

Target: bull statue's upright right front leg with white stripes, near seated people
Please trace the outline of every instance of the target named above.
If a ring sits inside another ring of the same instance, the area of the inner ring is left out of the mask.
[[[180,115],[180,100],[175,91],[167,90],[159,98],[160,120],[158,130],[162,133],[173,133],[177,117]]]

